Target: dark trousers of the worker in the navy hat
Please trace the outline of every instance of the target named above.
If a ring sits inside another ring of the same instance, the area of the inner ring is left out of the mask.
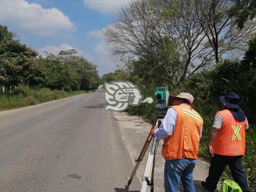
[[[242,167],[242,156],[224,156],[214,154],[209,168],[209,176],[206,178],[206,189],[214,191],[217,188],[220,176],[226,166],[229,166],[234,181],[241,187],[243,192],[251,192],[248,189],[246,175]]]

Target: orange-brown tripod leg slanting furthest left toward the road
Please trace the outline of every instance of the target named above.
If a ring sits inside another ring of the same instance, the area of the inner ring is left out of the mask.
[[[155,128],[156,122],[157,122],[157,121],[155,121],[155,123],[153,124],[151,130]],[[151,130],[150,130],[150,132],[151,132]],[[153,137],[151,136],[150,132],[149,132],[149,134],[148,134],[147,140],[145,141],[145,143],[144,143],[144,145],[143,145],[143,148],[142,148],[142,150],[141,150],[141,152],[140,152],[140,155],[139,155],[138,158],[135,160],[135,161],[136,161],[136,165],[135,165],[135,167],[134,167],[134,169],[133,169],[133,172],[131,173],[131,176],[130,176],[130,178],[129,178],[129,180],[128,180],[128,183],[127,183],[127,186],[128,186],[128,187],[129,187],[129,185],[131,184],[131,181],[133,180],[133,177],[134,177],[134,175],[135,175],[135,173],[136,173],[136,171],[137,171],[137,169],[138,169],[138,166],[140,165],[140,163],[141,163],[141,161],[142,161],[142,159],[143,159],[143,157],[144,157],[144,155],[145,155],[145,153],[146,153],[146,151],[147,151],[147,149],[148,149],[148,146],[149,146],[149,144],[150,144],[150,142],[151,142],[151,140],[152,140],[152,138],[153,138]]]

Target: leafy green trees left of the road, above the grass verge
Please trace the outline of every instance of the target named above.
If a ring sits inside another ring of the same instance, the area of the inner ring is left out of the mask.
[[[97,65],[77,56],[75,49],[46,54],[45,58],[38,56],[7,26],[0,25],[0,85],[5,91],[19,85],[64,91],[90,90],[99,85]]]

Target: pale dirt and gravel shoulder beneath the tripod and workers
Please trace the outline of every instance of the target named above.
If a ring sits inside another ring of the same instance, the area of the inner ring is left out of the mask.
[[[147,139],[147,136],[149,134],[149,131],[152,125],[148,122],[145,122],[142,118],[138,116],[130,116],[130,115],[127,115],[127,113],[125,112],[123,113],[113,112],[113,114],[116,121],[118,122],[123,142],[126,144],[126,148],[129,152],[131,161],[133,162],[133,166],[135,166],[135,163],[136,163],[135,159],[137,159],[138,155],[140,154],[140,151],[143,147],[145,140]],[[155,164],[155,174],[154,174],[154,191],[155,192],[164,191],[164,185],[163,185],[164,158],[161,155],[162,144],[163,144],[163,140],[159,141],[159,147],[157,150],[156,164]],[[148,151],[146,152],[143,158],[143,161],[141,162],[136,173],[141,184],[142,184],[142,177],[144,174],[147,158],[148,158]],[[209,168],[209,163],[198,159],[197,165],[195,166],[195,169],[194,169],[194,176],[193,176],[195,190],[197,192],[203,191],[200,188],[200,182],[201,180],[205,180],[205,178],[208,176],[208,168]],[[132,171],[133,171],[133,167],[131,167],[131,171],[127,173],[127,177],[130,176]],[[131,183],[131,185],[133,185],[133,183]],[[149,191],[149,188],[150,187],[148,187],[148,191]],[[182,191],[183,190],[180,189],[180,192]]]

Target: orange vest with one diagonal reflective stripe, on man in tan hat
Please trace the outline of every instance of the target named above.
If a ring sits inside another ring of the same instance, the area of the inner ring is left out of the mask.
[[[162,155],[165,160],[182,157],[197,159],[203,120],[190,105],[172,106],[177,111],[175,129],[164,139]]]

